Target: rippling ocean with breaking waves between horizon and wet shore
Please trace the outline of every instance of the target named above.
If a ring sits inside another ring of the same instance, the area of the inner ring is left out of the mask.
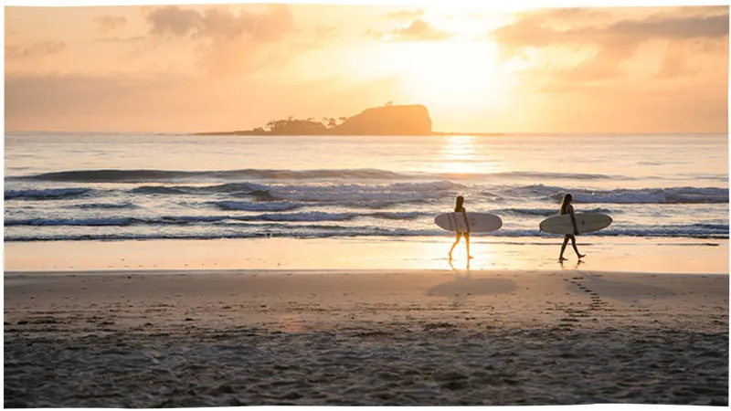
[[[249,237],[408,240],[455,197],[503,218],[476,235],[556,236],[571,193],[612,216],[582,235],[726,239],[725,134],[196,136],[5,134],[5,241]]]

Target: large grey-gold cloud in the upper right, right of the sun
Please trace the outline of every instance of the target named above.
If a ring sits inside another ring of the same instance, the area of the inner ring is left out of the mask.
[[[573,68],[552,68],[549,74],[564,80],[589,81],[620,75],[620,65],[632,58],[638,47],[652,40],[665,40],[674,47],[683,42],[718,42],[728,37],[728,9],[683,7],[645,18],[608,20],[609,13],[596,9],[554,9],[525,13],[511,25],[493,31],[493,37],[514,57],[524,47],[589,47],[594,56]],[[701,13],[705,11],[705,13]],[[668,51],[672,53],[673,51]],[[673,58],[667,64],[677,66]],[[670,75],[674,68],[662,68]]]

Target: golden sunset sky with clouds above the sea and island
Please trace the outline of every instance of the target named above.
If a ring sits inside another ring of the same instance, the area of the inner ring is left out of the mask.
[[[424,104],[440,132],[722,132],[726,5],[5,7],[5,130],[218,132]]]

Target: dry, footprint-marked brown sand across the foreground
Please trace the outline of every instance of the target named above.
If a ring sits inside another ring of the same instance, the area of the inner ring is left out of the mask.
[[[728,276],[5,273],[5,407],[728,403]]]

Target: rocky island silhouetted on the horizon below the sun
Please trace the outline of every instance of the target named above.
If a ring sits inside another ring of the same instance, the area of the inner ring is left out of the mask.
[[[366,109],[353,117],[269,121],[263,127],[234,132],[196,132],[195,135],[501,135],[486,132],[434,132],[429,110],[422,104]]]

